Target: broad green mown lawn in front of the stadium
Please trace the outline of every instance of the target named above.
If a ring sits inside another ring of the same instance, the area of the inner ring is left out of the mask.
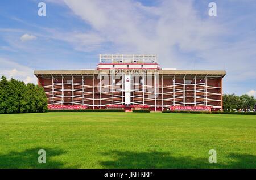
[[[256,168],[256,115],[0,114],[0,168]]]

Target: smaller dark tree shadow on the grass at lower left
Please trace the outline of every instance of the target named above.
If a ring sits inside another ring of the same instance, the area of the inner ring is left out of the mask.
[[[46,151],[46,163],[38,162],[38,151]],[[0,154],[0,168],[77,168],[64,166],[64,162],[56,160],[56,156],[65,151],[56,148],[32,148],[22,152],[11,151],[8,154]]]

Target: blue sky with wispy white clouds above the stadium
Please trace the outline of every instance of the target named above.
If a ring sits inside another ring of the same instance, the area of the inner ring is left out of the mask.
[[[256,96],[255,17],[254,0],[1,0],[0,74],[35,83],[34,70],[95,68],[100,53],[155,53],[164,68],[225,69],[224,93]]]

